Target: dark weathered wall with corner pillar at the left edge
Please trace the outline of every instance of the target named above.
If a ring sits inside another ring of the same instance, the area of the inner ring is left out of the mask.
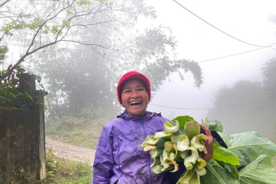
[[[30,183],[45,178],[41,128],[37,110],[0,109],[0,183]]]

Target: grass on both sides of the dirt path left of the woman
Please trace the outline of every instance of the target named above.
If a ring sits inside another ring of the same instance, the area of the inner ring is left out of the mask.
[[[46,124],[46,136],[55,136],[72,145],[96,149],[101,129],[109,121],[107,118],[66,117],[50,125]],[[46,163],[47,179],[39,181],[41,184],[90,184],[92,182],[92,166],[89,163],[60,159],[52,154],[52,150],[46,153]]]

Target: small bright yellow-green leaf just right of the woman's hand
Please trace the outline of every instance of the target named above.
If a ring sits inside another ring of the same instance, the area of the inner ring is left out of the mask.
[[[224,163],[230,163],[231,165],[239,165],[239,157],[237,154],[227,150],[217,143],[214,143],[214,154],[212,159]]]

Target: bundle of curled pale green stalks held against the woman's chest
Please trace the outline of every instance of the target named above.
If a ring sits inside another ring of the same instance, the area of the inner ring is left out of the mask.
[[[187,121],[183,121],[184,119]],[[199,183],[199,176],[206,174],[206,161],[201,159],[201,152],[207,153],[204,146],[205,136],[199,134],[200,126],[197,121],[190,119],[190,116],[180,116],[174,120],[175,125],[166,121],[164,132],[156,132],[154,136],[148,135],[140,146],[144,147],[144,152],[150,150],[150,156],[154,159],[150,165],[152,172],[177,172],[181,165],[185,165],[186,170],[177,184],[192,181]],[[232,160],[235,161],[235,158],[232,157]]]

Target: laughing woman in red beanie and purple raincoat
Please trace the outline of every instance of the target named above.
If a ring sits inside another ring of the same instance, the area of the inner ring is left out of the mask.
[[[126,110],[101,130],[93,165],[94,184],[172,182],[165,173],[151,171],[153,160],[139,147],[147,135],[164,131],[163,123],[168,121],[161,114],[146,111],[150,97],[150,80],[144,74],[130,71],[119,80],[117,99]],[[203,159],[209,161],[213,155],[213,137],[208,128],[201,127],[206,132],[208,151]]]

